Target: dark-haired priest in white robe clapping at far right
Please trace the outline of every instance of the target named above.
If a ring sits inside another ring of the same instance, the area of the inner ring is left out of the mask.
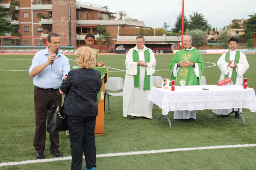
[[[246,60],[244,53],[240,52],[238,47],[238,41],[236,38],[230,38],[228,40],[229,51],[220,56],[217,65],[221,71],[220,80],[225,78],[231,78],[235,85],[243,85],[244,73],[249,68],[249,64]],[[233,109],[213,109],[212,112],[224,117],[231,113]],[[234,111],[238,111],[238,108],[234,108]],[[242,113],[242,108],[239,109]],[[236,118],[241,116],[235,112]]]

